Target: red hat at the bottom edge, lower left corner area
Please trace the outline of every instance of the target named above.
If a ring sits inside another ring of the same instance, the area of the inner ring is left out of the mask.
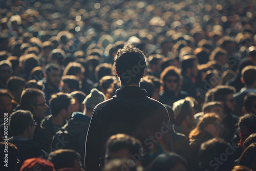
[[[34,168],[35,165],[37,165],[37,167],[39,167],[41,171],[55,171],[53,163],[41,157],[35,157],[25,160],[19,171],[31,170]]]

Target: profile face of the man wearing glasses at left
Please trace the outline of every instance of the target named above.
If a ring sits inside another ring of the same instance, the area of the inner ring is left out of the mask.
[[[49,106],[46,104],[45,97],[40,95],[40,96],[37,96],[37,103],[32,104],[32,108],[33,108],[33,111],[32,111],[33,116],[39,122],[45,118]]]

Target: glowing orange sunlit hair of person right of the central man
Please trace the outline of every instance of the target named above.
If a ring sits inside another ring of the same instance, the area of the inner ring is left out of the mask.
[[[198,137],[200,137],[203,134],[204,128],[213,122],[216,122],[217,120],[221,121],[221,118],[216,115],[215,113],[208,113],[205,114],[202,119],[197,123],[194,130],[192,130],[188,136],[189,140],[194,140]]]

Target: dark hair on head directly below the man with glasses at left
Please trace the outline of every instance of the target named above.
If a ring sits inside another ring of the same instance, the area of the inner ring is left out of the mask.
[[[33,117],[30,111],[18,110],[10,115],[9,127],[14,136],[23,134],[30,124],[33,124]]]

